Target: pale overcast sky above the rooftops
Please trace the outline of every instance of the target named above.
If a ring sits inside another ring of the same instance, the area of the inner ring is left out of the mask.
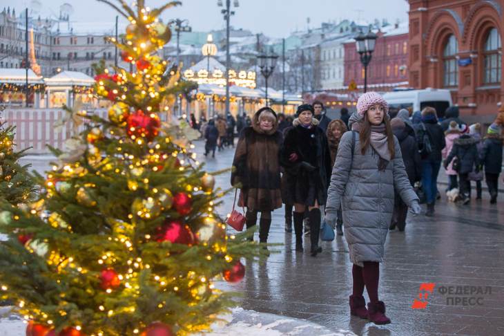
[[[40,14],[57,16],[59,6],[70,3],[71,21],[113,21],[115,11],[105,3],[94,0],[1,0],[0,6],[14,6],[19,13],[23,8],[33,8],[33,2],[42,4]],[[112,0],[115,2],[115,0]],[[168,0],[146,0],[151,8]],[[252,32],[264,32],[271,37],[286,37],[290,32],[318,27],[324,21],[339,19],[388,19],[389,22],[407,20],[407,0],[239,0],[231,25]],[[130,1],[128,1],[130,2]],[[225,2],[225,0],[224,0]],[[233,3],[233,0],[231,0]],[[188,19],[193,30],[206,31],[224,27],[217,0],[182,0],[179,8],[167,10],[164,20],[178,17]],[[166,22],[166,21],[165,21]]]

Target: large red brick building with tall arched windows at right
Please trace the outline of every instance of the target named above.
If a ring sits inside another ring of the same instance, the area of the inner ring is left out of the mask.
[[[409,0],[409,84],[449,88],[468,121],[504,99],[504,0]],[[471,117],[472,116],[472,117]]]

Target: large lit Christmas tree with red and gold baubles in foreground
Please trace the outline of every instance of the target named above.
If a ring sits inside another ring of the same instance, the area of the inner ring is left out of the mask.
[[[27,335],[188,335],[233,303],[214,282],[244,277],[240,258],[264,253],[229,236],[215,212],[224,191],[196,161],[187,132],[160,120],[187,90],[157,51],[170,39],[149,9],[114,6],[130,21],[114,44],[136,71],[97,66],[108,118],[70,111],[84,131],[57,151],[43,190],[26,207],[2,203],[0,296]],[[23,237],[23,239],[20,239]]]

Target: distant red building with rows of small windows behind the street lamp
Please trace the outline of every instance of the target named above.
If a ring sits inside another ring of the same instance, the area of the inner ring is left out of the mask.
[[[408,24],[390,25],[377,32],[376,46],[371,63],[367,67],[368,89],[389,91],[396,86],[407,86],[409,54]],[[345,80],[352,81],[358,88],[364,86],[364,67],[356,50],[355,41],[345,44]]]

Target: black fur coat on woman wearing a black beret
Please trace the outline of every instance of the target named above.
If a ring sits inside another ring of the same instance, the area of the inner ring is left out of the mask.
[[[295,162],[289,161],[292,153],[298,155]],[[314,169],[310,171],[307,164]],[[293,127],[285,130],[280,165],[284,167],[282,198],[285,204],[305,204],[303,200],[308,198],[309,183],[315,180],[318,203],[325,205],[332,167],[327,137],[320,127],[313,125],[307,129],[295,119]]]

